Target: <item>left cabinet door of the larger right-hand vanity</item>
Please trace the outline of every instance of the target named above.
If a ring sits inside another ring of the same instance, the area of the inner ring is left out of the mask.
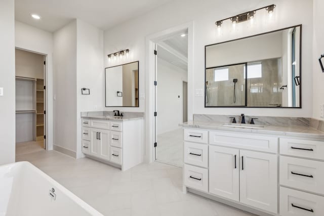
[[[239,150],[209,147],[209,192],[239,201]]]

